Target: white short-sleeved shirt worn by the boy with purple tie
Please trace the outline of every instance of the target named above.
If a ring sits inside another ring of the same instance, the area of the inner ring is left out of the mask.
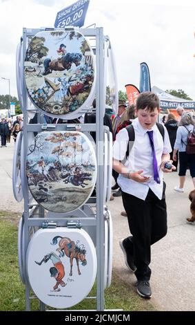
[[[170,145],[170,138],[165,129],[165,137],[163,143],[163,137],[161,136],[158,127],[156,124],[152,127],[151,130],[143,129],[141,124],[136,118],[132,125],[135,132],[134,145],[130,151],[130,155],[124,163],[125,167],[129,171],[138,171],[143,169],[143,176],[152,176],[150,180],[145,183],[138,183],[135,180],[125,178],[125,176],[119,174],[117,183],[121,187],[123,192],[134,195],[137,198],[145,200],[149,188],[152,189],[152,192],[161,200],[163,196],[163,171],[161,170],[161,158],[163,154],[169,154],[172,151]],[[152,131],[154,135],[154,148],[156,151],[156,160],[158,165],[158,174],[161,180],[161,183],[158,184],[154,180],[154,171],[153,171],[153,155],[152,147],[150,145],[150,139],[147,134],[147,131]],[[123,128],[117,135],[116,140],[113,146],[113,158],[116,160],[123,160],[127,151],[127,144],[129,142],[129,136],[126,128]]]

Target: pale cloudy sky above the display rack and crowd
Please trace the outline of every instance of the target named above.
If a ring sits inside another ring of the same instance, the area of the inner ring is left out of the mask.
[[[76,0],[0,0],[0,95],[17,96],[16,49],[23,28],[54,27],[57,12]],[[84,27],[110,37],[119,90],[139,86],[140,64],[152,86],[183,89],[195,100],[194,0],[90,0]]]

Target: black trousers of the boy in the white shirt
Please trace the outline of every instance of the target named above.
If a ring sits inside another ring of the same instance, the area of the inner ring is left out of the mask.
[[[132,236],[128,237],[128,249],[134,255],[136,278],[150,280],[150,246],[167,234],[167,206],[165,203],[165,183],[163,198],[159,200],[149,189],[145,201],[122,192],[123,205],[127,212]]]

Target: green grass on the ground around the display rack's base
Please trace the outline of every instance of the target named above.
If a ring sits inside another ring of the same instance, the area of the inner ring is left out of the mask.
[[[25,310],[25,286],[19,277],[17,259],[17,223],[19,214],[0,211],[0,310]],[[96,286],[90,296],[96,295]],[[96,310],[96,299],[83,299],[79,304],[69,308],[72,310]],[[130,286],[127,286],[113,272],[112,284],[105,289],[105,309],[154,310],[145,299],[139,297]],[[32,310],[39,310],[38,299],[32,300]]]

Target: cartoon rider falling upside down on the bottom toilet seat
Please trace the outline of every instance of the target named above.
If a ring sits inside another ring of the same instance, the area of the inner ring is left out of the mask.
[[[54,277],[57,281],[53,289],[54,291],[60,291],[60,288],[58,288],[59,285],[61,285],[62,287],[65,287],[66,285],[65,282],[62,281],[63,277],[65,276],[65,271],[63,263],[61,262],[61,259],[57,256],[57,254],[55,254],[54,252],[50,252],[49,254],[46,254],[43,257],[41,262],[34,262],[41,266],[43,262],[47,263],[49,260],[51,260],[54,265],[52,268],[50,268],[50,275],[51,277]]]

